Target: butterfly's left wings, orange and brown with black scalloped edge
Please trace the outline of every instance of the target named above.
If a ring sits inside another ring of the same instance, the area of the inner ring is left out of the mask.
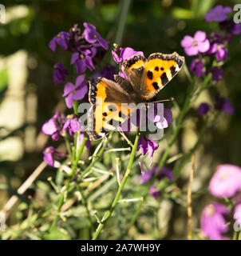
[[[110,130],[115,130],[134,108],[128,92],[106,78],[89,82],[89,102],[92,107],[88,113],[87,132],[91,140],[103,138]]]

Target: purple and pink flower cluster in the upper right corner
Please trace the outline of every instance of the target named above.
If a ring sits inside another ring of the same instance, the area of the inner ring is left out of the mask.
[[[218,82],[223,78],[223,70],[220,64],[228,58],[227,46],[231,42],[231,36],[241,34],[241,24],[235,24],[233,19],[228,19],[231,7],[215,6],[205,16],[207,22],[218,22],[221,33],[212,32],[208,37],[203,31],[196,31],[194,37],[185,35],[181,46],[188,56],[198,55],[192,60],[190,70],[197,78],[201,75],[212,74],[212,80]],[[209,57],[209,62],[207,58]],[[213,58],[215,57],[215,62]],[[208,65],[209,64],[209,65]]]

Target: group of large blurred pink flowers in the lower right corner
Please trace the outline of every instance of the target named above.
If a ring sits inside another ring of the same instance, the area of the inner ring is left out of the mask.
[[[220,165],[212,176],[208,187],[209,192],[217,198],[233,198],[235,202],[235,221],[241,224],[241,168],[233,165]],[[232,210],[227,206],[211,202],[203,209],[200,224],[207,238],[220,240],[229,239],[223,236],[229,230],[228,220]]]

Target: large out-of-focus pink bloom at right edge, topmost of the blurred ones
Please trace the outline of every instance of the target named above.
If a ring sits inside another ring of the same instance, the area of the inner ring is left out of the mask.
[[[241,189],[241,168],[220,165],[209,183],[209,192],[217,198],[231,198]]]

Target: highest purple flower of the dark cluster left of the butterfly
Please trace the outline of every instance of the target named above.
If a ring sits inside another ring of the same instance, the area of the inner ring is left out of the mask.
[[[101,34],[97,32],[97,29],[92,24],[84,22],[85,30],[85,40],[89,43],[99,42],[99,44],[105,49],[108,50],[109,43],[105,39],[101,38]]]

